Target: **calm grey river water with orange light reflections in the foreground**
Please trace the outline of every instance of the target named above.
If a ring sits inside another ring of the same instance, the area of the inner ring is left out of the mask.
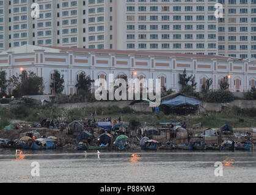
[[[0,149],[0,182],[256,182],[256,152],[21,151]],[[32,177],[32,162],[39,177]],[[214,163],[224,163],[214,176]]]

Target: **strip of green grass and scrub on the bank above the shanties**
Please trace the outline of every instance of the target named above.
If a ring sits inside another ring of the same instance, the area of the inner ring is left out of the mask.
[[[45,118],[52,118],[57,120],[63,118],[67,121],[79,119],[90,116],[90,113],[95,110],[93,107],[74,108],[67,110],[59,107],[37,107],[26,105],[12,105],[9,108],[0,108],[0,128],[9,124],[9,119],[20,119],[28,122],[40,122]],[[119,108],[111,107],[97,107],[97,119],[104,117],[111,117],[118,120],[121,116],[122,121],[130,122],[137,121],[141,125],[147,122],[148,126],[156,126],[159,122],[184,122],[188,127],[193,124],[201,122],[203,128],[219,128],[224,124],[229,124],[235,127],[256,127],[256,109],[241,109],[238,107],[230,108],[225,113],[201,113],[200,115],[178,116],[178,115],[164,115],[159,113],[134,113],[129,107]]]

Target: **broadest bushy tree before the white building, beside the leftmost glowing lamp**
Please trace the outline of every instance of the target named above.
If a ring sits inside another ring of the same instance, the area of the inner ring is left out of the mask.
[[[14,85],[14,96],[43,94],[43,78],[38,77],[34,72],[23,71],[19,76],[12,76],[10,82]]]

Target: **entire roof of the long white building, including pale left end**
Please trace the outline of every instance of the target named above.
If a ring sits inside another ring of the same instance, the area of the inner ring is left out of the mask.
[[[208,59],[236,59],[233,57],[225,57],[221,55],[200,55],[200,54],[179,54],[174,52],[161,52],[161,51],[131,51],[131,50],[113,50],[113,49],[87,49],[87,48],[69,48],[69,47],[61,47],[61,46],[34,46],[26,44],[24,46],[20,46],[17,48],[12,48],[7,51],[2,51],[0,54],[7,54],[8,52],[13,52],[14,54],[24,54],[24,53],[32,53],[35,50],[45,50],[45,52],[95,52],[101,54],[134,54],[134,55],[156,55],[156,56],[164,56],[164,57],[195,57],[195,58],[208,58]]]

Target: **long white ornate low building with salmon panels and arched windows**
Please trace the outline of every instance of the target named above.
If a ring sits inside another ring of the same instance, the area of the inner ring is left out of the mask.
[[[24,45],[0,53],[0,68],[7,79],[22,71],[33,71],[43,77],[45,94],[55,70],[64,76],[65,94],[76,93],[78,75],[84,71],[92,79],[106,78],[108,74],[128,78],[161,79],[161,86],[178,91],[178,76],[186,69],[196,76],[197,91],[205,80],[212,78],[212,89],[218,89],[221,79],[229,77],[230,91],[248,91],[255,86],[256,61],[216,55],[171,54],[163,52],[116,51],[107,49],[65,48]],[[9,93],[12,86],[9,86]]]

